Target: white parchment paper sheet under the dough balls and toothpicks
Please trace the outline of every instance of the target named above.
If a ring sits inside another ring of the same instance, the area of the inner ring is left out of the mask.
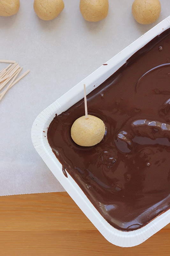
[[[0,195],[64,191],[33,148],[36,116],[75,84],[170,13],[169,0],[155,23],[138,24],[133,0],[110,0],[107,18],[87,22],[79,0],[64,0],[54,20],[40,20],[33,0],[20,0],[18,14],[0,17],[0,59],[16,60],[31,72],[0,102]],[[0,64],[0,69],[6,64]]]

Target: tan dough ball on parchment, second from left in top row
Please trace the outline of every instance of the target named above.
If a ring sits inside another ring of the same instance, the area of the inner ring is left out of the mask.
[[[41,20],[53,20],[64,9],[63,0],[34,0],[33,8]]]

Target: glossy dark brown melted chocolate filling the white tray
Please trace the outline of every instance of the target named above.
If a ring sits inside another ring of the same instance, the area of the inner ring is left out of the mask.
[[[99,144],[81,147],[71,139],[84,100],[54,118],[48,142],[112,226],[140,228],[170,208],[170,29],[94,89],[87,106],[107,128]]]

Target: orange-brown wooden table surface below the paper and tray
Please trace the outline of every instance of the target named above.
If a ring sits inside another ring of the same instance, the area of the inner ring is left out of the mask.
[[[110,244],[66,192],[0,196],[0,256],[170,256],[170,224],[143,244]]]

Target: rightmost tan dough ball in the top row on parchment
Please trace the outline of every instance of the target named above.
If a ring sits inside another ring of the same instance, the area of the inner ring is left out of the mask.
[[[135,0],[132,4],[132,14],[140,24],[155,22],[161,11],[159,0]]]

